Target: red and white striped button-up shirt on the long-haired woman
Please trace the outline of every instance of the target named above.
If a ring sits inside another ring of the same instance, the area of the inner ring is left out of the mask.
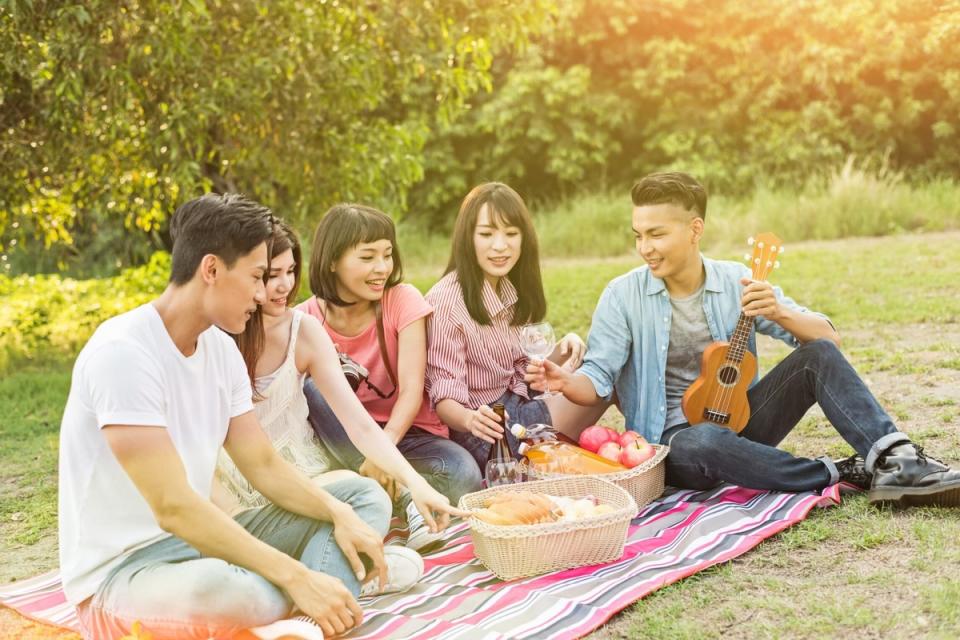
[[[445,275],[427,293],[434,311],[427,321],[426,386],[434,406],[449,398],[476,409],[508,389],[528,397],[520,327],[510,326],[517,290],[507,278],[500,280],[499,289],[498,296],[490,283],[483,283],[489,325],[477,324],[470,316],[456,272]]]

